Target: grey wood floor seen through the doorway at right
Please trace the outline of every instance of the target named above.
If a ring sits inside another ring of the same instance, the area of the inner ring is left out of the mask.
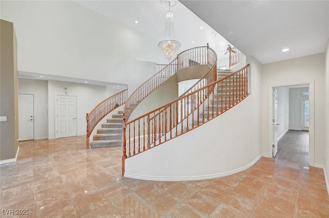
[[[276,158],[308,164],[308,131],[288,130],[278,141]]]

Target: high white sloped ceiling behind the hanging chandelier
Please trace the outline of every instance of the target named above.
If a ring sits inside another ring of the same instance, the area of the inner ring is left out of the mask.
[[[169,8],[161,4],[161,0],[75,0],[74,2],[143,32],[158,42],[165,39],[165,18]],[[217,52],[218,56],[224,57],[225,51],[223,50],[226,50],[230,44],[224,37],[180,2],[176,1],[176,5],[170,10],[174,13],[175,37],[181,44],[178,52],[193,47],[206,46],[209,43],[209,46]],[[138,24],[135,21],[138,21]]]

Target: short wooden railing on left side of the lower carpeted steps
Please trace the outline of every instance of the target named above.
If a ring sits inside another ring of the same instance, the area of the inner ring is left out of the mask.
[[[89,137],[97,124],[111,111],[123,105],[126,102],[127,89],[120,91],[96,105],[96,107],[86,114],[87,121],[87,138],[86,148],[89,148]]]

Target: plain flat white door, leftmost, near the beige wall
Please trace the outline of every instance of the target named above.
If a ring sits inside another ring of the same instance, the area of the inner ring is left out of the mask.
[[[19,94],[19,139],[34,140],[33,94]]]

